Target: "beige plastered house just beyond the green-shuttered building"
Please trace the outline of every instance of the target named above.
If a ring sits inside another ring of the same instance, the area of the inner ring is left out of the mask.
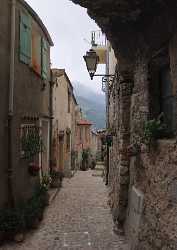
[[[64,69],[53,69],[53,167],[69,177],[75,166],[77,101]],[[71,164],[72,163],[72,164]]]

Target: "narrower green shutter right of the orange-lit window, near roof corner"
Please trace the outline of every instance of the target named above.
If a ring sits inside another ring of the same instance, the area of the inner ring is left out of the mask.
[[[48,76],[48,47],[47,47],[47,42],[44,38],[41,39],[41,51],[42,51],[42,63],[41,63],[41,73],[42,73],[42,78],[47,79]]]

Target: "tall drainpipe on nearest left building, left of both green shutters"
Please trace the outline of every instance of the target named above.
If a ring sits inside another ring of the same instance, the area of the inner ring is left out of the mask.
[[[13,195],[13,162],[12,162],[12,120],[14,113],[14,68],[15,68],[15,7],[16,0],[11,0],[11,31],[10,31],[10,74],[9,74],[9,107],[8,107],[8,205],[14,207]]]

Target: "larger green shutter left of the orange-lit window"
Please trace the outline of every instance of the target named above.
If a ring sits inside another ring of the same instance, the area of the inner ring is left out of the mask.
[[[21,13],[20,15],[20,61],[31,62],[31,18]]]

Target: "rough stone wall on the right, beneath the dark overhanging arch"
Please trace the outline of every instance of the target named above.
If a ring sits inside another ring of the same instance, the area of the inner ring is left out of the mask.
[[[175,37],[169,49],[174,95]],[[137,55],[133,80],[119,75],[110,89],[109,124],[116,133],[110,148],[109,202],[132,250],[176,249],[177,145],[173,138],[158,140],[149,151],[143,141],[145,122],[152,118],[150,84],[157,83],[150,82],[148,58]]]

